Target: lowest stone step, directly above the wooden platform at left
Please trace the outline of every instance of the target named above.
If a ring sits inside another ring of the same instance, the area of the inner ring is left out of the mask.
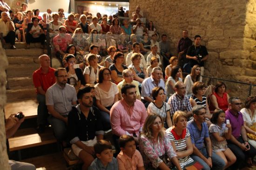
[[[7,90],[7,102],[18,102],[36,98],[35,88]]]

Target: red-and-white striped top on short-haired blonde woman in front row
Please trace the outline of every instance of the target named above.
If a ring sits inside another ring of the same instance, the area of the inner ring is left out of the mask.
[[[174,130],[172,130],[172,127],[168,128],[166,130],[168,137],[170,139],[170,141],[175,143],[175,148],[176,151],[184,151],[187,149],[187,138],[190,137],[190,133],[189,130],[186,128],[182,131],[182,135],[179,136],[176,134],[176,132]],[[179,159],[179,163],[181,165],[181,168],[183,170],[183,168],[188,165],[189,163],[194,162],[194,160],[187,156],[187,157],[182,157],[182,158],[178,158]]]

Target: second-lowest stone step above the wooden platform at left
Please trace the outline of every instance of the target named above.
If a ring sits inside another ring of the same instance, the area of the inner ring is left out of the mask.
[[[7,78],[7,81],[9,90],[34,88],[32,75],[27,77]]]

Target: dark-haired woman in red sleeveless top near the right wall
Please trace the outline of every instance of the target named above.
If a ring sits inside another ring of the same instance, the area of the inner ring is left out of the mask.
[[[215,92],[210,97],[210,111],[214,111],[215,109],[221,109],[223,111],[228,110],[229,108],[229,95],[226,93],[226,85],[225,83],[219,81],[216,84]]]

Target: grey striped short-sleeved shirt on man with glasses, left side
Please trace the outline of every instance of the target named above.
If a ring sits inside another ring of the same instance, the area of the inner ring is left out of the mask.
[[[46,105],[53,105],[54,110],[61,115],[68,115],[72,109],[72,102],[77,101],[76,92],[72,85],[66,84],[62,89],[55,83],[46,91]]]

